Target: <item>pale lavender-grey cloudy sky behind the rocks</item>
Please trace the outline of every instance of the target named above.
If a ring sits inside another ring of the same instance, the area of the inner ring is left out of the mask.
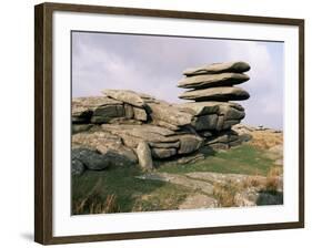
[[[283,43],[221,39],[72,32],[72,96],[129,89],[182,102],[182,71],[202,64],[245,61],[251,97],[243,123],[283,128]]]

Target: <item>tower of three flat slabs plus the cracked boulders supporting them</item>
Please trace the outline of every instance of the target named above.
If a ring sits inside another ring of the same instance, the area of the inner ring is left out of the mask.
[[[215,148],[228,148],[239,144],[238,134],[231,127],[244,118],[244,108],[231,101],[250,97],[249,93],[236,84],[249,80],[244,72],[250,70],[245,62],[214,63],[188,69],[185,78],[178,86],[188,89],[179,97],[192,100],[180,104],[193,114],[192,125],[205,138],[205,144]]]

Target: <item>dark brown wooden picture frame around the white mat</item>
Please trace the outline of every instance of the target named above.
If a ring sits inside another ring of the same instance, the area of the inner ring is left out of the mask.
[[[110,13],[157,18],[215,20],[299,28],[299,221],[98,234],[53,237],[52,232],[52,14],[54,11]],[[42,245],[103,240],[225,234],[304,227],[304,20],[184,12],[154,9],[117,8],[66,3],[41,3],[34,7],[34,241]]]

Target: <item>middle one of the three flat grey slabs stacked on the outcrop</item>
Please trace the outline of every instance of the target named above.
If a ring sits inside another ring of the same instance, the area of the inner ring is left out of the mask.
[[[221,73],[221,74],[203,74],[187,76],[178,82],[178,87],[184,89],[207,89],[215,86],[232,86],[249,80],[246,74],[242,73]]]

